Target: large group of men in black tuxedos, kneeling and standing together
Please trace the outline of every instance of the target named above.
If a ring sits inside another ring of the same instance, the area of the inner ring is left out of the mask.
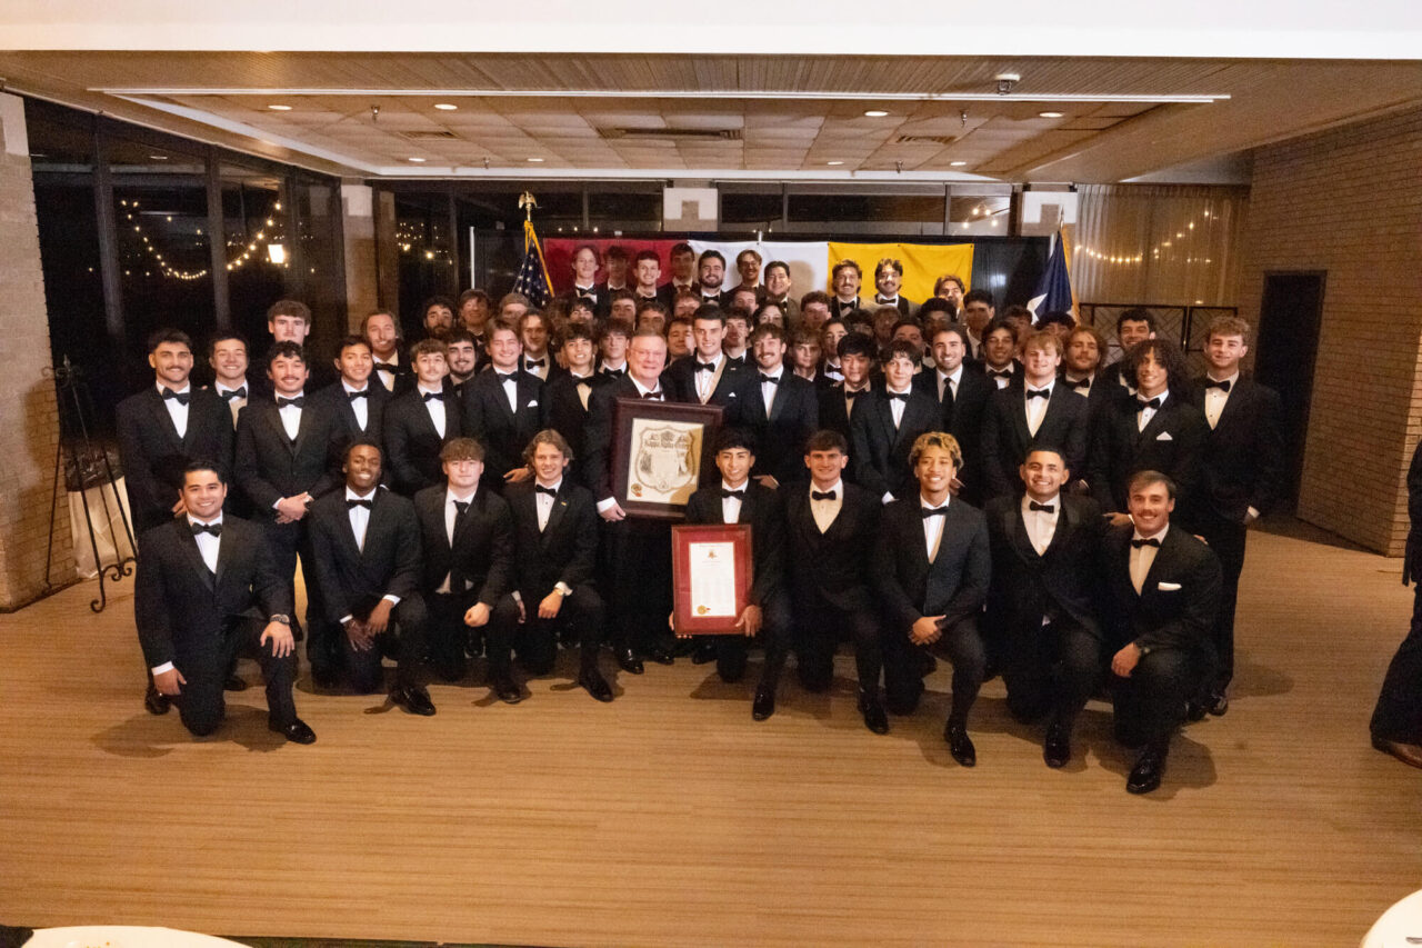
[[[219,369],[232,337],[213,344],[212,389],[191,386],[181,333],[155,337],[155,384],[118,411],[151,710],[178,699],[189,727],[210,730],[235,656],[257,651],[273,729],[314,739],[290,700],[301,635],[323,688],[344,676],[377,690],[394,658],[391,697],[417,715],[434,713],[427,668],[458,680],[471,658],[488,659],[505,702],[522,697],[512,655],[546,675],[559,641],[580,649],[577,680],[599,700],[613,696],[604,633],[627,673],[674,662],[670,527],[629,517],[610,470],[617,401],[636,399],[722,410],[687,520],[751,524],[754,582],[737,635],[694,660],[738,680],[759,639],[757,720],[774,713],[791,652],[806,689],[829,688],[842,639],[876,733],[914,710],[934,653],[953,665],[944,737],[964,766],[970,709],[997,672],[1014,715],[1047,717],[1057,767],[1109,670],[1118,736],[1143,749],[1136,791],[1158,786],[1187,713],[1224,713],[1246,525],[1277,495],[1281,464],[1277,397],[1239,377],[1239,320],[1210,329],[1210,374],[1192,384],[1179,347],[1153,333],[1119,381],[1064,374],[1048,332],[990,374],[973,352],[991,323],[978,339],[933,323],[931,369],[921,343],[852,333],[833,353],[839,377],[809,380],[786,366],[779,325],[728,356],[715,302],[670,364],[661,332],[616,323],[596,335],[621,335],[621,364],[597,366],[580,325],[529,354],[530,319],[546,336],[536,312],[482,325],[481,354],[455,374],[448,332],[401,352],[392,317],[373,313],[343,340],[338,377],[314,390],[304,332],[283,327],[309,329],[299,303],[273,307],[264,372],[245,384]],[[156,569],[162,557],[186,569]],[[292,616],[299,561],[304,632]],[[243,581],[242,595],[228,589]],[[216,632],[172,621],[209,601]]]

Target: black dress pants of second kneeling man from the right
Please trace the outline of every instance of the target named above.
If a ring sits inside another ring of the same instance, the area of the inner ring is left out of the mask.
[[[1014,629],[1003,656],[1007,709],[1021,722],[1051,712],[1069,726],[1096,689],[1102,663],[1101,641],[1075,622]]]

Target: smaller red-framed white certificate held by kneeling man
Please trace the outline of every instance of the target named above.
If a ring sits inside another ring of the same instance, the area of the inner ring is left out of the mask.
[[[677,635],[734,635],[751,598],[751,527],[677,524],[671,576]]]

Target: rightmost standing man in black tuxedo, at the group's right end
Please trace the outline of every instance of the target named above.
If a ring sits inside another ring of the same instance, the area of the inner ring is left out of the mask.
[[[1212,715],[1229,710],[1234,678],[1234,605],[1249,525],[1284,491],[1283,409],[1278,393],[1240,374],[1249,353],[1249,323],[1221,316],[1204,336],[1206,374],[1194,383],[1192,403],[1210,426],[1200,463],[1200,490],[1189,511],[1190,528],[1220,558],[1224,588],[1214,623],[1214,680],[1196,703]],[[1197,713],[1197,712],[1196,712]]]

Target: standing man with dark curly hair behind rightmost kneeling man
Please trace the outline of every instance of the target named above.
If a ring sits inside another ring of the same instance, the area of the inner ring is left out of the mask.
[[[1185,353],[1169,339],[1148,339],[1126,354],[1122,372],[1136,394],[1112,400],[1096,416],[1088,454],[1091,495],[1121,527],[1129,522],[1130,475],[1160,471],[1175,484],[1182,517],[1189,518],[1210,428],[1190,404]]]

